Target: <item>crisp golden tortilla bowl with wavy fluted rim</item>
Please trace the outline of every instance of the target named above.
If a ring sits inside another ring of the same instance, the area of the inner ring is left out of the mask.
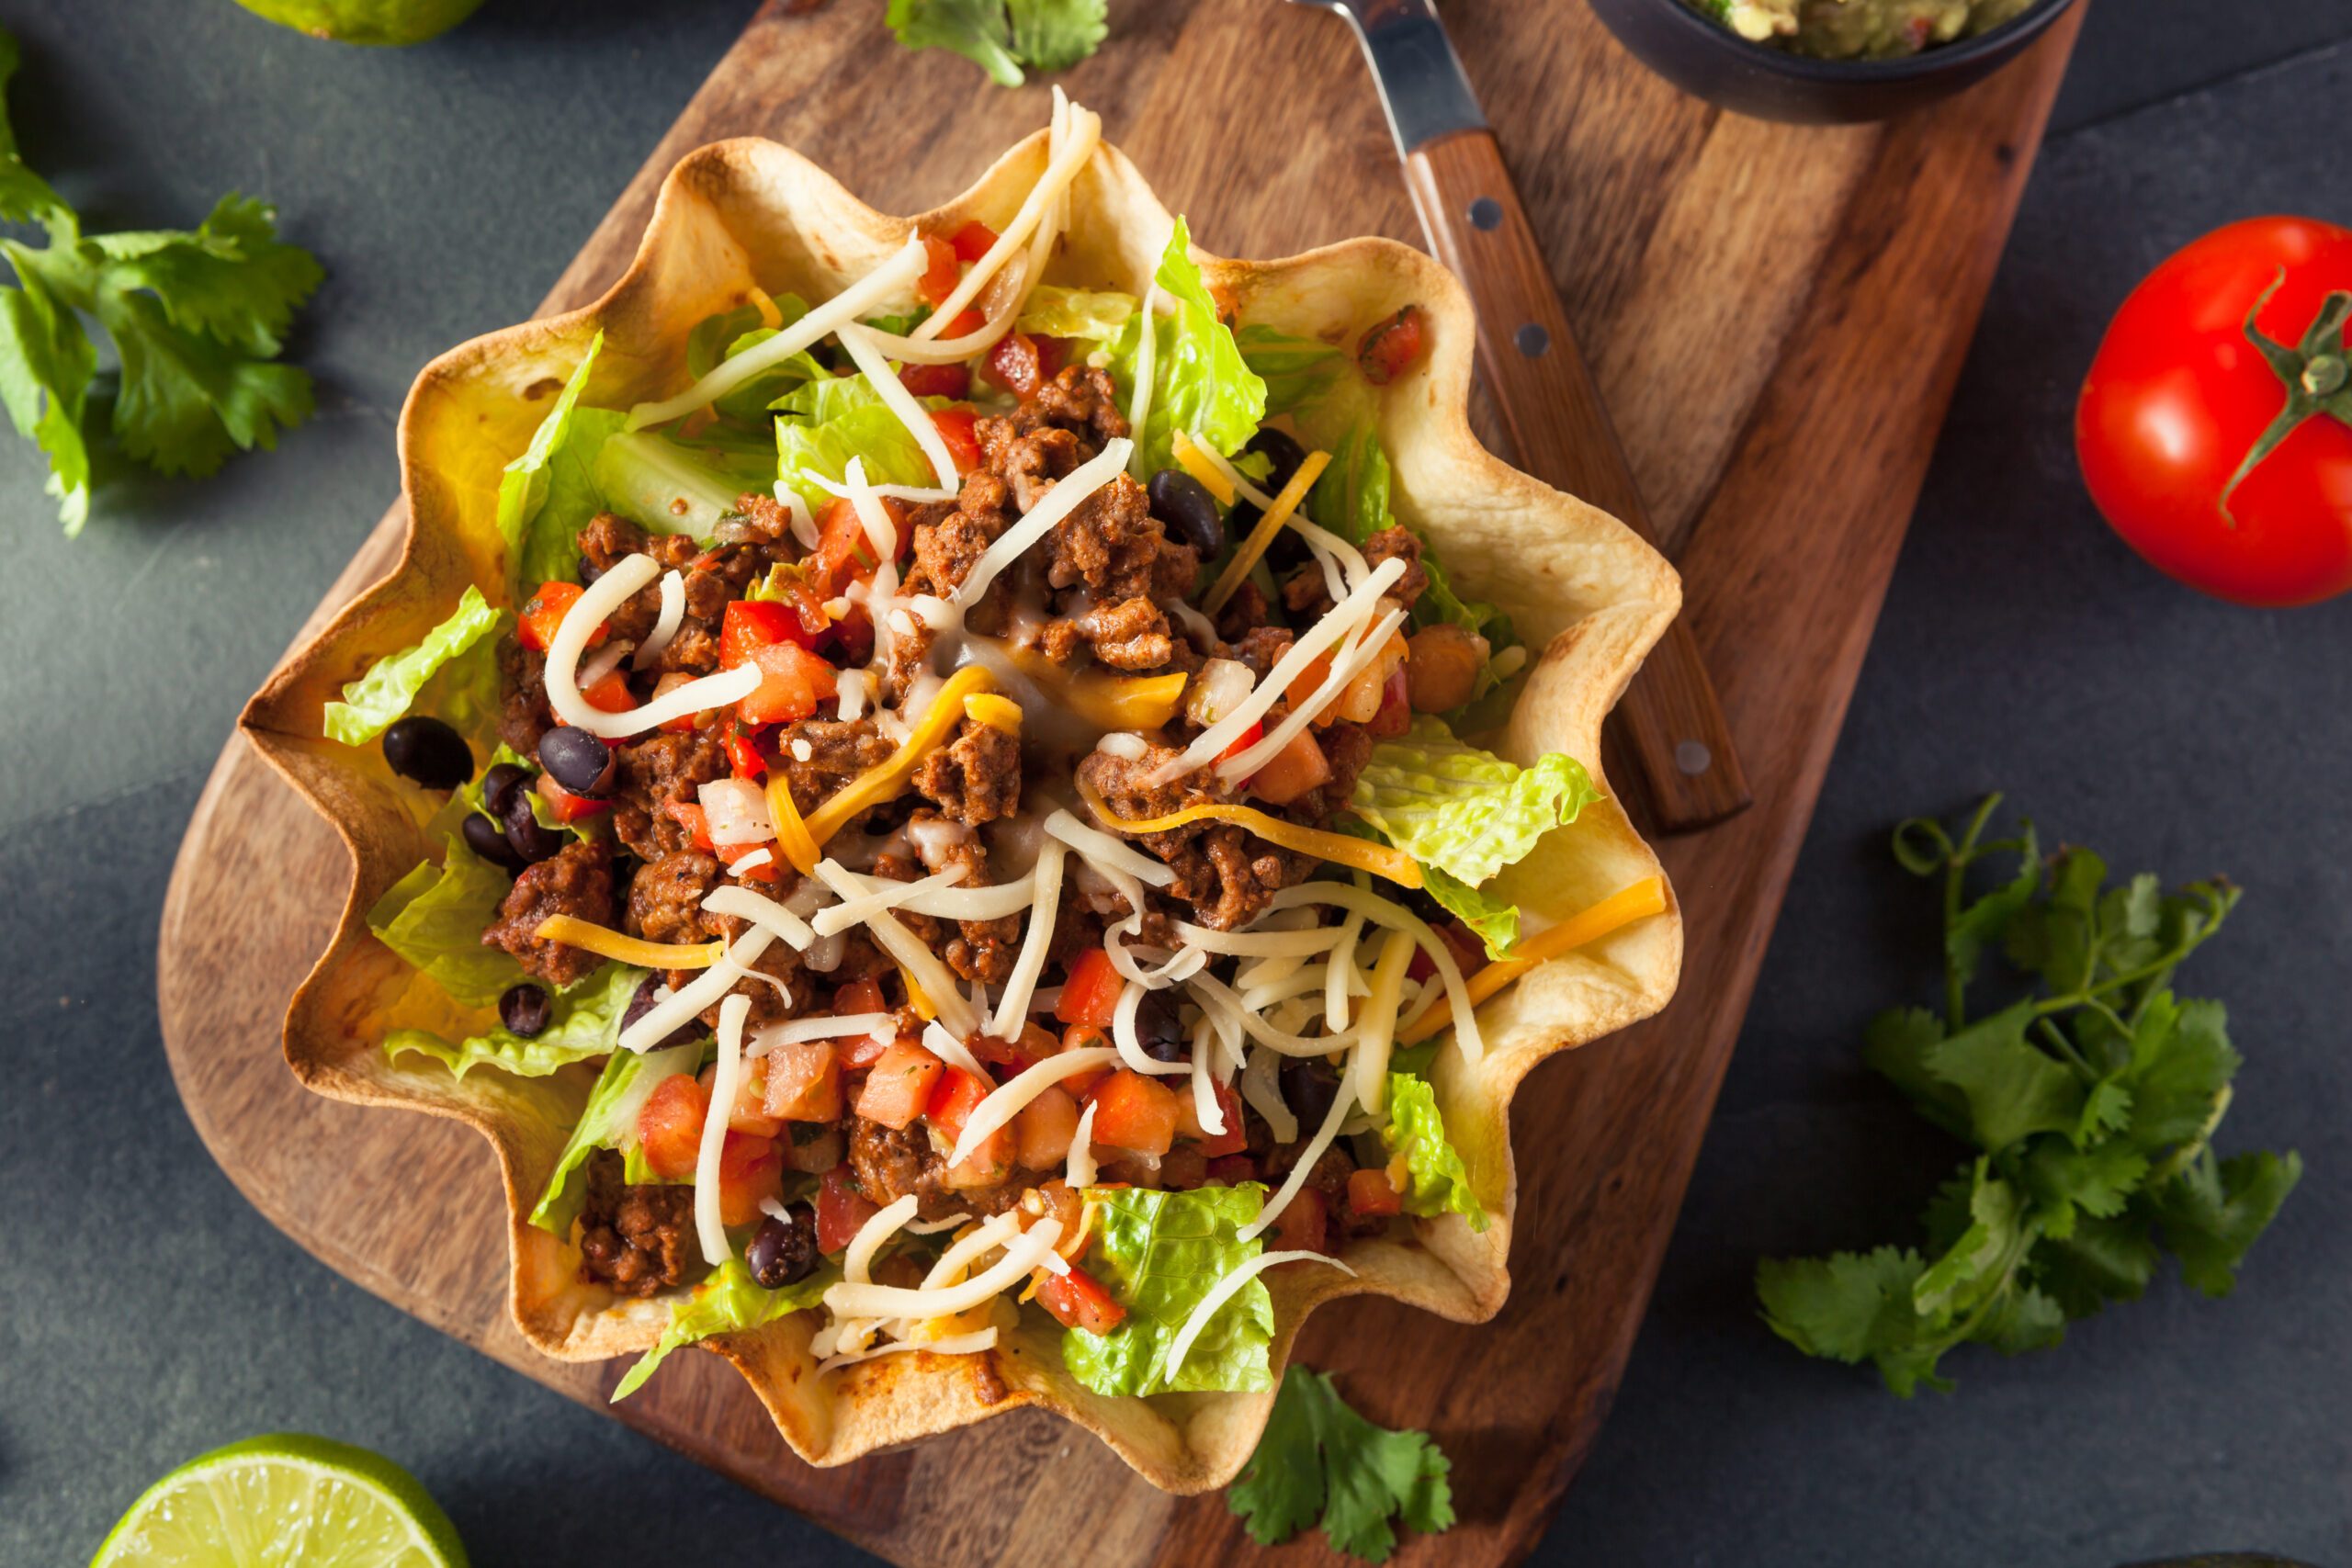
[[[287,1011],[285,1053],[313,1091],[358,1105],[454,1117],[499,1154],[510,1239],[510,1309],[541,1352],[600,1359],[649,1347],[668,1321],[661,1300],[626,1300],[579,1279],[569,1241],[534,1229],[536,1201],[595,1079],[593,1065],[520,1079],[463,1079],[421,1056],[386,1060],[383,1037],[423,1027],[480,1032],[489,1011],[461,1009],[369,933],[367,907],[426,858],[423,823],[437,799],[400,780],[381,750],[322,738],[322,705],[379,656],[416,642],[468,583],[503,597],[494,524],[499,477],[520,454],[590,339],[604,348],[586,402],[628,407],[684,386],[689,327],[734,308],[757,284],[826,299],[880,263],[910,230],[950,233],[969,219],[1002,228],[1040,179],[1044,132],[1011,148],[950,205],[915,219],[873,212],[823,169],[769,141],[722,141],[689,153],[663,181],[635,263],[597,303],[463,343],[423,369],[400,418],[409,536],[397,569],[296,649],[247,705],[242,729],[350,849],[341,924]],[[1143,294],[1171,228],[1169,212],[1108,143],[1070,190],[1070,226],[1049,282]],[[1430,322],[1430,353],[1378,397],[1395,465],[1395,508],[1416,524],[1468,595],[1501,604],[1534,654],[1501,733],[1486,743],[1531,762],[1569,752],[1602,776],[1602,717],[1679,607],[1672,567],[1613,517],[1496,461],[1470,435],[1472,313],[1454,277],[1390,240],[1352,240],[1287,261],[1200,256],[1240,320],[1352,346],[1406,303]],[[1649,846],[1616,799],[1557,830],[1498,891],[1552,922],[1658,877]],[[1545,961],[1482,1011],[1489,1051],[1468,1067],[1439,1053],[1435,1093],[1491,1222],[1411,1220],[1411,1232],[1355,1241],[1329,1267],[1265,1274],[1275,1300],[1270,1363],[1317,1305],[1390,1295],[1454,1321],[1484,1321],[1510,1288],[1510,1098],[1545,1056],[1621,1030],[1665,1006],[1682,966],[1682,917],[1670,907]],[[1037,1314],[1030,1314],[1037,1316]],[[703,1340],[753,1385],[790,1448],[811,1465],[948,1432],[1021,1406],[1049,1408],[1110,1443],[1171,1493],[1223,1486],[1249,1460],[1272,1406],[1258,1394],[1108,1399],[1061,1366],[1058,1328],[1025,1321],[993,1352],[915,1352],[818,1378],[814,1314]]]

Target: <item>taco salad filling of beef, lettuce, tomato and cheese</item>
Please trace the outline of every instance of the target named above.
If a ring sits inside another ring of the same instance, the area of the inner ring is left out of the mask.
[[[588,346],[506,581],[329,705],[447,795],[369,924],[482,1030],[386,1051],[595,1079],[532,1222],[670,1302],[621,1392],[793,1312],[823,1375],[1030,1321],[1103,1394],[1270,1387],[1261,1269],[1489,1220],[1437,1051],[1665,907],[1486,886],[1597,790],[1461,738],[1526,651],[1395,512],[1435,322],[1235,320],[1183,221],[1141,296],[1047,282],[1098,136],[748,289],[673,397],[595,407]]]

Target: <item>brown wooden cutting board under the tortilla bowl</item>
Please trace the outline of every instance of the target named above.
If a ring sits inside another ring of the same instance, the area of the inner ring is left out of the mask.
[[[661,174],[703,141],[774,136],[875,207],[920,212],[1044,122],[1044,87],[908,54],[880,16],[873,0],[760,9],[546,308],[621,273]],[[1508,1563],[1550,1523],[1632,1349],[2079,16],[1947,106],[1851,129],[1684,99],[1581,5],[1463,2],[1449,24],[1682,564],[1757,792],[1745,816],[1663,846],[1689,919],[1672,1009],[1519,1093],[1503,1316],[1463,1328],[1343,1302],[1301,1345],[1371,1418],[1428,1427],[1454,1455],[1461,1523],[1399,1561]],[[1214,252],[1421,242],[1355,42],[1327,14],[1115,0],[1110,42],[1061,80]],[[390,567],[402,529],[393,508],[313,625]],[[604,1410],[623,1363],[546,1361],[506,1319],[489,1150],[454,1124],[313,1098],[280,1060],[285,1001],[346,886],[334,835],[230,741],[158,954],[188,1114],[329,1267]],[[1218,1497],[1162,1497],[1042,1415],[821,1472],[715,1356],[673,1359],[614,1415],[898,1563],[1063,1561],[1073,1540],[1112,1568],[1251,1552]],[[1310,1556],[1327,1556],[1319,1537],[1284,1549]]]

